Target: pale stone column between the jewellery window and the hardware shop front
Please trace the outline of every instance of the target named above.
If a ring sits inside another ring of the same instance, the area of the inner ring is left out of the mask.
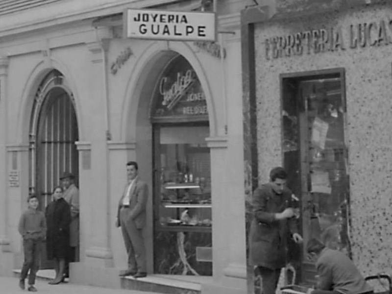
[[[246,293],[244,200],[233,190],[235,183],[228,172],[235,169],[242,178],[241,164],[235,156],[228,156],[228,138],[210,137],[206,141],[211,152],[214,284],[203,285],[203,291]]]

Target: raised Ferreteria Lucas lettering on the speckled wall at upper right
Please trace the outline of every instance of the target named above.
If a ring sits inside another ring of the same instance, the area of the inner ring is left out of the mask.
[[[266,59],[392,44],[392,20],[296,32],[265,39]]]

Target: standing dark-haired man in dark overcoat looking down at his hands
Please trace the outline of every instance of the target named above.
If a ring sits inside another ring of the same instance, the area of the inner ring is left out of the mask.
[[[270,182],[257,188],[252,195],[249,259],[259,269],[263,294],[275,294],[280,271],[286,265],[287,228],[295,243],[302,242],[297,232],[292,192],[285,186],[286,179],[283,168],[273,168]]]

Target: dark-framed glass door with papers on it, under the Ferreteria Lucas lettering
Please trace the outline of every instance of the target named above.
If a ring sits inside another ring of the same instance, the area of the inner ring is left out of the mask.
[[[316,269],[305,252],[310,239],[347,254],[350,251],[343,74],[291,78],[283,84],[285,167],[289,187],[299,199],[304,238],[302,252],[298,250],[293,259],[300,268],[301,282],[313,284]]]

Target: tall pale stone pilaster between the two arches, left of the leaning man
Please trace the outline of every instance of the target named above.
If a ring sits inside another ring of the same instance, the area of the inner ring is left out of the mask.
[[[108,217],[109,174],[106,146],[109,133],[106,105],[107,81],[105,79],[107,42],[89,43],[87,48],[91,57],[91,69],[88,71],[90,102],[84,104],[89,108],[88,112],[92,118],[91,122],[86,122],[86,129],[91,130],[88,136],[92,144],[90,150],[84,148],[86,145],[84,147],[79,145],[79,147],[81,153],[89,153],[91,167],[99,168],[90,168],[90,178],[87,180],[89,184],[86,186],[89,189],[89,192],[86,191],[86,195],[90,196],[89,203],[86,203],[90,207],[87,212],[87,215],[90,216],[90,227],[88,231],[89,242],[86,244],[86,261],[99,266],[113,267],[113,255],[110,249],[111,220]],[[95,102],[91,103],[91,101]],[[83,165],[83,156],[80,158]],[[83,172],[83,170],[81,171]]]

